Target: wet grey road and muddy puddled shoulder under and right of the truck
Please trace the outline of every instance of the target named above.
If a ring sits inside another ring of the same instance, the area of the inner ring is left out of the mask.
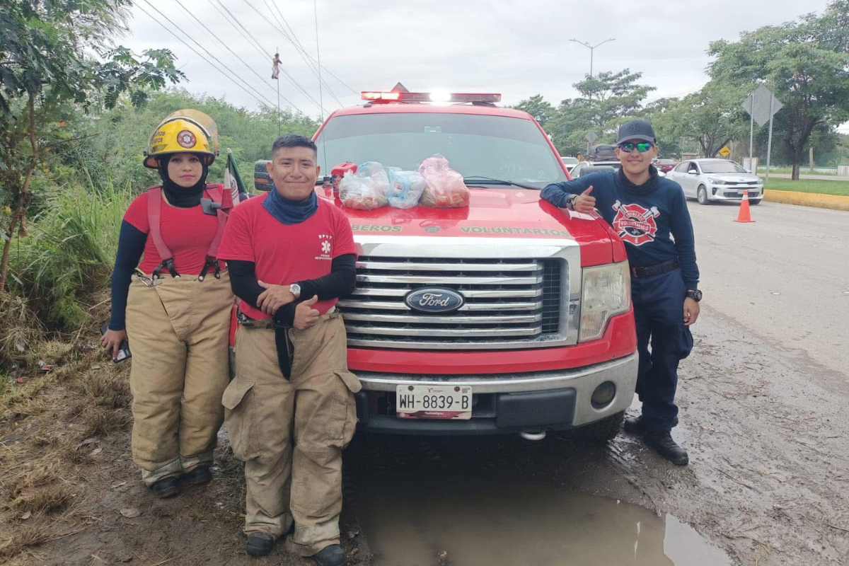
[[[625,434],[357,434],[364,563],[849,564],[849,213],[689,209],[706,296],[673,431],[689,466]]]

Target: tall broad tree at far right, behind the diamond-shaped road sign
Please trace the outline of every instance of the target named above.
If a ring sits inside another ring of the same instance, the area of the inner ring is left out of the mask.
[[[794,180],[812,132],[849,120],[849,1],[835,0],[822,15],[745,32],[739,41],[711,42],[715,81],[754,90],[766,84],[784,108],[774,127],[784,139]]]

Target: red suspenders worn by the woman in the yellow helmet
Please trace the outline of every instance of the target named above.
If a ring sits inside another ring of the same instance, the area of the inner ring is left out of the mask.
[[[216,278],[221,277],[221,266],[218,263],[218,246],[221,245],[221,238],[224,236],[224,226],[227,224],[227,217],[230,209],[233,208],[233,195],[230,191],[224,190],[223,185],[207,185],[205,194],[212,200],[213,203],[220,205],[216,210],[218,216],[218,229],[215,238],[212,238],[209,249],[206,250],[206,262],[203,270],[198,278],[200,281],[206,277],[206,272],[210,267],[214,268]],[[152,187],[148,189],[148,224],[150,227],[150,237],[154,240],[156,252],[160,255],[162,262],[156,267],[152,274],[152,278],[160,278],[160,271],[165,267],[171,274],[171,277],[180,277],[177,269],[174,267],[174,255],[171,249],[168,249],[165,240],[162,238],[160,231],[160,220],[162,218],[162,188]]]

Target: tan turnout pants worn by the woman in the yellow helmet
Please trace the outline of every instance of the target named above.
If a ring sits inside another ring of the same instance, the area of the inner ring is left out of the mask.
[[[153,485],[212,462],[229,381],[230,277],[132,277],[132,458]]]

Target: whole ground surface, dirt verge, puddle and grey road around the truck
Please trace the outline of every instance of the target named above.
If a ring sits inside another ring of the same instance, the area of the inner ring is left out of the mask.
[[[849,373],[835,322],[849,312],[846,224],[770,203],[753,214],[732,225],[729,207],[694,210],[712,278],[679,384],[688,467],[624,434],[606,446],[358,434],[345,453],[351,563],[849,564]],[[796,231],[790,248],[782,230]],[[83,358],[0,406],[0,563],[310,563],[282,547],[243,552],[244,482],[226,435],[211,485],[149,496],[130,461],[126,368]]]

